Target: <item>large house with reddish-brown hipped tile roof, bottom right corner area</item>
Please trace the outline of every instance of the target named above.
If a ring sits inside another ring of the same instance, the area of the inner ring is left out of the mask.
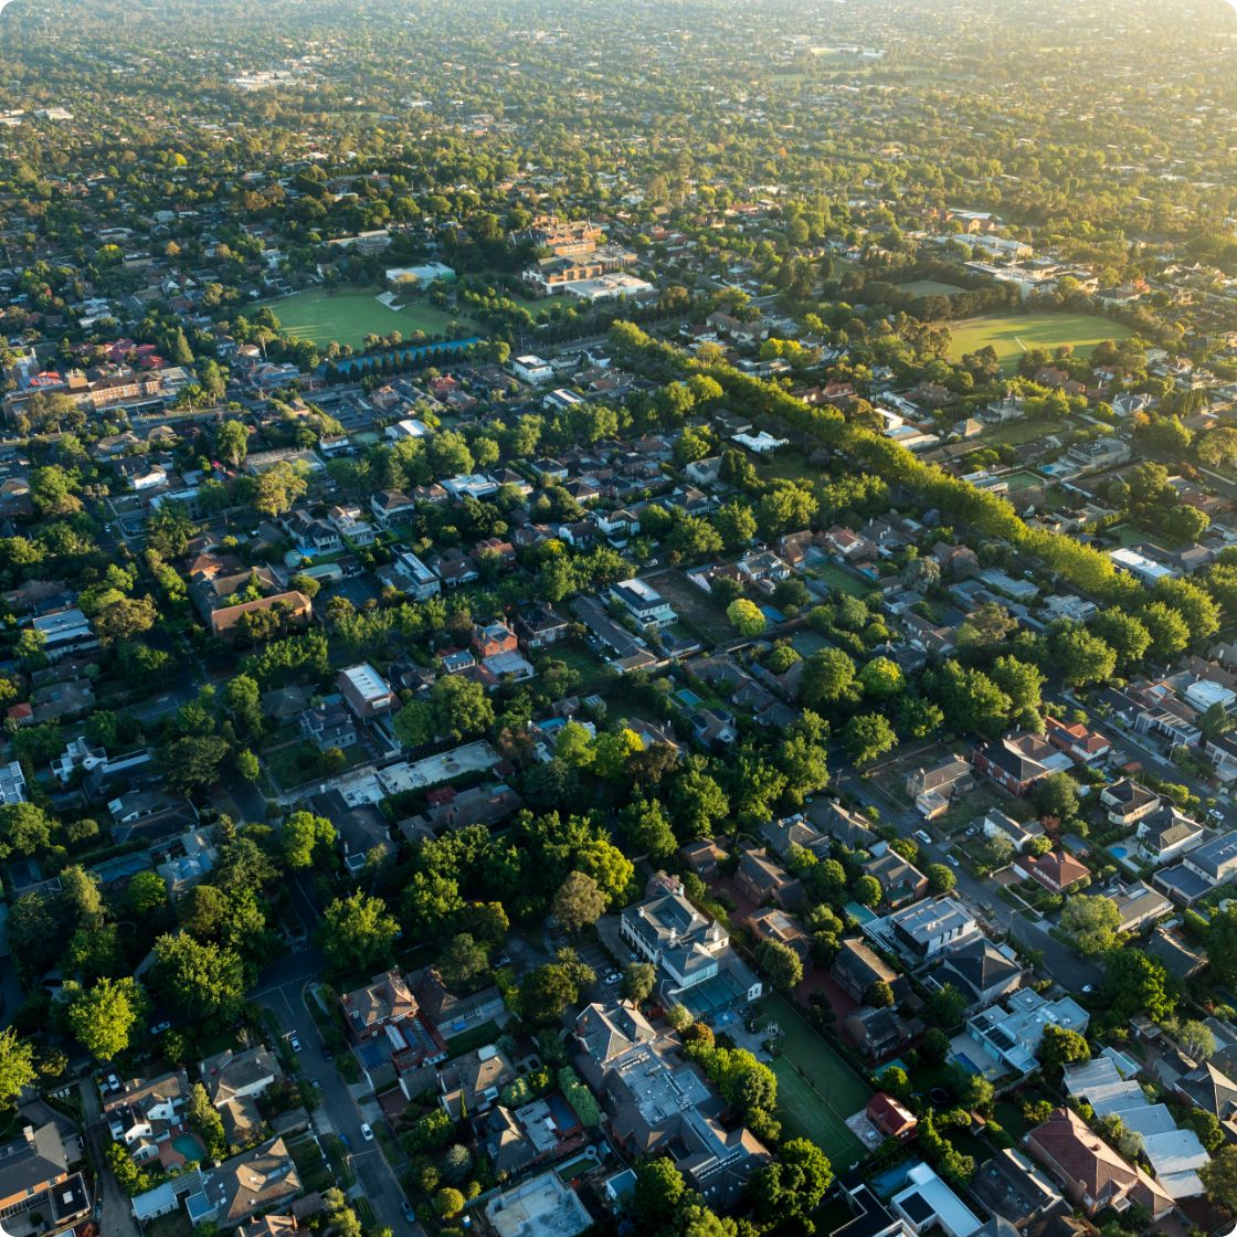
[[[1055,1108],[1027,1134],[1027,1150],[1061,1183],[1071,1206],[1089,1216],[1105,1207],[1144,1207],[1157,1218],[1173,1199],[1141,1168],[1126,1163],[1087,1123],[1069,1108]]]

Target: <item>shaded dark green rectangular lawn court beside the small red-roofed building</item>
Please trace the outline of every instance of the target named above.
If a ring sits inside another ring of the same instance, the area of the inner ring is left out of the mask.
[[[846,1118],[867,1105],[871,1089],[784,997],[766,997],[762,1019],[784,1032],[781,1055],[771,1066],[777,1075],[778,1116],[790,1132],[820,1147],[835,1171],[845,1171],[863,1157]]]

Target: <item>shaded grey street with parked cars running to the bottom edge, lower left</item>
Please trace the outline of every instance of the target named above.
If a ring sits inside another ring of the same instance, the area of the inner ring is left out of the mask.
[[[341,1134],[348,1139],[353,1170],[356,1173],[354,1192],[369,1200],[380,1226],[385,1225],[398,1233],[408,1227],[401,1206],[403,1190],[377,1142],[367,1143],[361,1137],[361,1122],[367,1121],[371,1126],[377,1123],[377,1105],[371,1102],[361,1106],[353,1097],[334,1063],[323,1055],[318,1027],[306,1007],[306,1001],[312,999],[308,985],[317,981],[323,965],[320,951],[307,945],[265,972],[261,981],[263,986],[254,993],[254,999],[271,1011],[285,1035],[294,1033],[301,1042],[301,1066],[322,1094],[322,1103],[313,1113],[314,1127],[319,1133]]]

